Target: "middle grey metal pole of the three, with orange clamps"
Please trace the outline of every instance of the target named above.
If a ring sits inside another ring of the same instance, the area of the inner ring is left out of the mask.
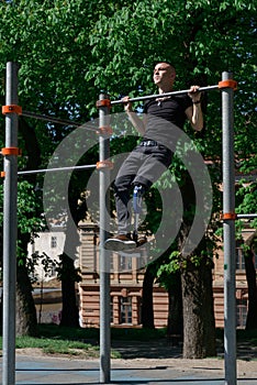
[[[109,96],[101,94],[99,101],[108,100]],[[108,128],[110,120],[110,107],[104,103],[99,107],[99,161],[110,157],[110,139],[101,128]],[[101,133],[102,132],[102,133]],[[110,329],[110,260],[109,252],[103,248],[110,231],[109,223],[109,167],[99,168],[99,208],[100,208],[100,383],[110,382],[111,362],[111,329]]]

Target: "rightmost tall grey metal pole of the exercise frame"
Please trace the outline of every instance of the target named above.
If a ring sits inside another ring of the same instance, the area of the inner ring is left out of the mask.
[[[222,80],[233,79],[230,73]],[[235,173],[233,88],[222,89],[225,384],[236,384]]]

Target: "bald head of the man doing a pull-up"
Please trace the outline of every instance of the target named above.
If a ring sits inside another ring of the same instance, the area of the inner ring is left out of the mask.
[[[164,92],[172,90],[176,72],[174,66],[168,62],[159,62],[154,68],[154,82]]]

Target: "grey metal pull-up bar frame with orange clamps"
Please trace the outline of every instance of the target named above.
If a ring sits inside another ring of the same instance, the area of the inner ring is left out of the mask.
[[[225,384],[236,384],[236,323],[235,323],[235,220],[237,218],[256,218],[257,215],[235,215],[235,175],[234,175],[234,118],[233,96],[236,82],[230,73],[222,74],[222,81],[216,86],[201,87],[200,91],[220,89],[222,91],[222,135],[223,135],[223,240],[224,240],[224,361]],[[189,90],[168,92],[163,96],[183,95]],[[154,99],[159,95],[132,98],[131,101]],[[18,172],[18,117],[43,119],[78,127],[77,123],[34,114],[22,113],[18,105],[18,65],[7,64],[5,106],[5,147],[4,157],[4,197],[3,197],[3,344],[2,344],[2,385],[15,384],[15,279],[16,279],[16,198],[18,175],[32,173],[58,172],[65,169],[83,169],[97,167],[99,170],[100,205],[100,383],[110,383],[110,274],[108,252],[103,243],[109,234],[105,196],[110,183],[110,109],[123,103],[111,101],[101,94],[97,102],[99,108],[99,162],[97,165],[60,167],[41,170]],[[80,125],[79,125],[80,127]],[[93,129],[96,131],[96,129]],[[97,131],[96,131],[97,132]]]

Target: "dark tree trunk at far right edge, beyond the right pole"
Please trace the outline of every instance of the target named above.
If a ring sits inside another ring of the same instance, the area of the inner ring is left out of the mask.
[[[245,253],[245,271],[248,285],[248,312],[246,330],[257,329],[257,285],[255,256],[252,250]]]

